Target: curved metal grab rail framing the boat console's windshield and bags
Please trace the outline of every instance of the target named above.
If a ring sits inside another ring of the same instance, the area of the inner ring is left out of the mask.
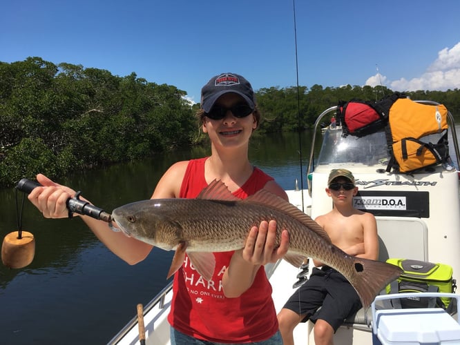
[[[440,103],[437,103],[435,101],[415,101],[417,103],[423,103],[423,104],[428,104],[432,106],[439,106]],[[315,152],[315,144],[316,144],[316,133],[318,133],[318,128],[323,124],[323,119],[326,115],[329,115],[331,112],[336,112],[337,106],[332,106],[325,111],[321,112],[321,114],[316,118],[315,124],[314,124],[314,131],[312,135],[312,145],[310,146],[310,155],[308,159],[308,168],[307,168],[307,177],[311,172],[314,170],[314,152]],[[454,144],[454,151],[455,151],[455,157],[457,158],[457,170],[459,170],[459,165],[460,165],[460,150],[459,150],[459,142],[457,139],[457,132],[455,130],[455,119],[448,110],[448,128],[450,130],[450,135],[452,138],[452,144]],[[307,187],[308,187],[308,194],[311,197],[312,196],[312,181],[307,178]]]

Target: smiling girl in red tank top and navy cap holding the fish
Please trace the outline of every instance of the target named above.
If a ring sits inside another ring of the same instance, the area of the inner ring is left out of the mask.
[[[195,198],[217,179],[233,197],[245,199],[265,189],[287,200],[274,179],[249,162],[249,139],[260,123],[249,81],[234,73],[211,78],[202,88],[197,115],[203,132],[209,135],[211,155],[173,164],[158,182],[152,199]],[[37,181],[44,187],[30,193],[32,204],[44,217],[68,217],[66,200],[75,195],[75,190],[44,175],[37,175]],[[104,221],[81,217],[128,264],[141,262],[153,248],[122,232],[108,230]],[[242,250],[211,253],[215,266],[207,279],[200,273],[209,270],[209,256],[186,255],[186,244],[178,246],[170,269],[175,272],[169,315],[171,344],[282,344],[263,265],[287,253],[287,230],[282,232],[280,246],[276,246],[276,221],[262,221],[248,231]]]

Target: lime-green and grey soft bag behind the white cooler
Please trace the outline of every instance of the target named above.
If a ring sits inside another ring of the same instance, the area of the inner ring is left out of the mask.
[[[452,267],[410,259],[387,259],[388,264],[399,266],[401,276],[387,286],[387,293],[453,293],[457,286],[452,279]],[[399,302],[401,305],[399,305]],[[392,300],[394,308],[448,308],[450,298],[401,298]]]

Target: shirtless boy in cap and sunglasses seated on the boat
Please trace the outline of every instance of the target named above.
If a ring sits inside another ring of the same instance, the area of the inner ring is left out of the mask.
[[[318,216],[320,224],[333,244],[345,253],[376,260],[378,236],[374,215],[354,208],[358,193],[352,172],[334,169],[327,180],[326,193],[333,208]],[[315,344],[334,344],[333,337],[344,319],[361,308],[361,302],[351,284],[333,268],[314,260],[309,280],[300,286],[278,313],[278,322],[285,345],[294,344],[293,331],[299,322],[314,322]],[[321,268],[318,268],[322,266]],[[320,308],[321,307],[321,308]]]

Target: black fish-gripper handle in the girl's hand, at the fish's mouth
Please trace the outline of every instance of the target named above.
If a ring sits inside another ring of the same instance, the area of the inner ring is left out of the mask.
[[[17,190],[27,194],[30,194],[30,192],[37,187],[41,187],[41,184],[36,181],[30,181],[30,179],[21,179],[16,186]],[[96,207],[88,201],[80,199],[81,194],[82,192],[77,192],[75,193],[75,197],[69,197],[67,199],[66,206],[69,218],[73,217],[73,213],[78,213],[79,215],[87,215],[108,223],[112,221],[110,213],[106,213],[106,211],[102,208]]]

